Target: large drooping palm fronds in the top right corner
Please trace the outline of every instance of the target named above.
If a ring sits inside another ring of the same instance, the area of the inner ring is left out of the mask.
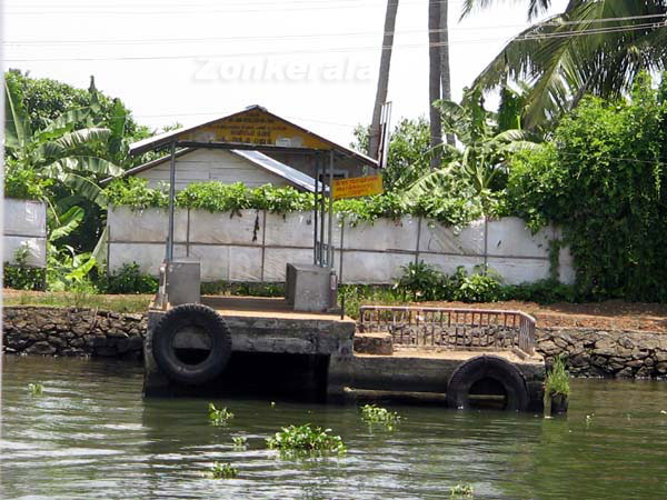
[[[551,0],[527,0],[528,19]],[[461,17],[495,0],[466,0]],[[484,90],[526,80],[525,123],[535,127],[577,106],[585,93],[615,98],[644,70],[667,67],[667,0],[570,0],[564,12],[515,37],[477,77]]]

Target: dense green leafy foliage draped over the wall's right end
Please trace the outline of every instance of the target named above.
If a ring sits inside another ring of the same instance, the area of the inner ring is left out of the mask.
[[[666,98],[648,76],[631,99],[586,98],[511,166],[511,212],[563,228],[584,298],[667,300]]]

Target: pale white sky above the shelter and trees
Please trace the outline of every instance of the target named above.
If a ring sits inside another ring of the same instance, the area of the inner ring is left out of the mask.
[[[567,0],[554,0],[552,12]],[[428,111],[428,0],[399,0],[392,123]],[[526,1],[459,22],[452,97],[527,24]],[[4,69],[119,97],[139,123],[193,124],[260,104],[348,144],[370,122],[386,0],[6,0]],[[494,98],[489,98],[494,106]]]

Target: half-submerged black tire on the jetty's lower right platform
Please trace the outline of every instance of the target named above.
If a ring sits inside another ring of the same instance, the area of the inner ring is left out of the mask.
[[[480,356],[461,364],[449,379],[447,406],[467,410],[472,384],[489,378],[505,389],[505,410],[525,411],[528,407],[528,390],[521,372],[508,361],[496,356]]]

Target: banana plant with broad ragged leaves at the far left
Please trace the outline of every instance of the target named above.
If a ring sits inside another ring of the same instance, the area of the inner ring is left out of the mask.
[[[32,131],[19,93],[10,81],[4,84],[4,150],[13,163],[101,204],[103,197],[98,181],[120,176],[123,170],[87,150],[106,143],[118,131],[94,127],[91,108],[68,111],[44,129]],[[87,121],[89,127],[74,130],[74,124],[81,121]]]

